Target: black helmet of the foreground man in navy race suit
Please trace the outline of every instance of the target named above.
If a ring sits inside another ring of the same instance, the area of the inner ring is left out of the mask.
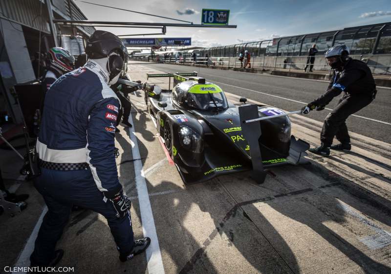
[[[116,52],[125,60],[128,59],[128,51],[124,42],[116,35],[108,31],[96,30],[87,40],[86,54],[90,59],[108,57]]]

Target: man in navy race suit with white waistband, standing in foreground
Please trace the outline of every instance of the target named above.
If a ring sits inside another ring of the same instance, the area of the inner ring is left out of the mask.
[[[119,99],[109,88],[124,67],[126,47],[112,33],[95,31],[88,39],[87,63],[56,80],[47,91],[37,140],[41,176],[35,187],[48,211],[30,256],[31,266],[53,266],[55,250],[72,205],[104,215],[121,261],[144,252],[145,237],[134,241],[130,200],[118,180],[114,156]]]

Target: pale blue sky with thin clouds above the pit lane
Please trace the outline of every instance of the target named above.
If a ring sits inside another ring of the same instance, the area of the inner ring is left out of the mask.
[[[132,38],[192,38],[192,46],[213,47],[276,37],[391,22],[391,0],[85,0],[201,23],[203,8],[229,9],[237,28],[167,27],[166,35]],[[74,0],[88,20],[181,23]],[[159,29],[96,27],[116,35],[157,33]]]

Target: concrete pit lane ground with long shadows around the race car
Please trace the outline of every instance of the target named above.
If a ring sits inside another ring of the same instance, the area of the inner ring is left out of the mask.
[[[163,73],[143,64],[128,71],[143,82],[146,73]],[[168,87],[165,78],[149,82]],[[226,95],[239,105],[238,96]],[[155,241],[147,254],[120,263],[106,220],[73,212],[57,245],[65,250],[61,266],[75,273],[391,273],[389,143],[352,134],[350,153],[309,154],[311,165],[273,168],[261,185],[248,173],[184,185],[143,92],[130,100],[134,126],[116,135],[118,173],[132,200],[135,237],[155,234]],[[321,122],[291,121],[295,137],[319,144]],[[26,263],[21,255],[44,205],[30,183],[18,189],[26,191],[27,210],[1,223],[1,266]],[[14,243],[5,248],[9,237]]]

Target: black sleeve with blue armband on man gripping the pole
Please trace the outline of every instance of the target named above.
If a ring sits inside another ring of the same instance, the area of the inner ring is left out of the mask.
[[[331,86],[328,86],[326,93],[316,100],[313,100],[310,104],[315,106],[328,104],[334,97],[340,95],[351,83],[357,81],[361,77],[362,73],[359,70],[343,71],[341,77],[333,82]],[[331,81],[332,80],[333,79],[331,79]]]

